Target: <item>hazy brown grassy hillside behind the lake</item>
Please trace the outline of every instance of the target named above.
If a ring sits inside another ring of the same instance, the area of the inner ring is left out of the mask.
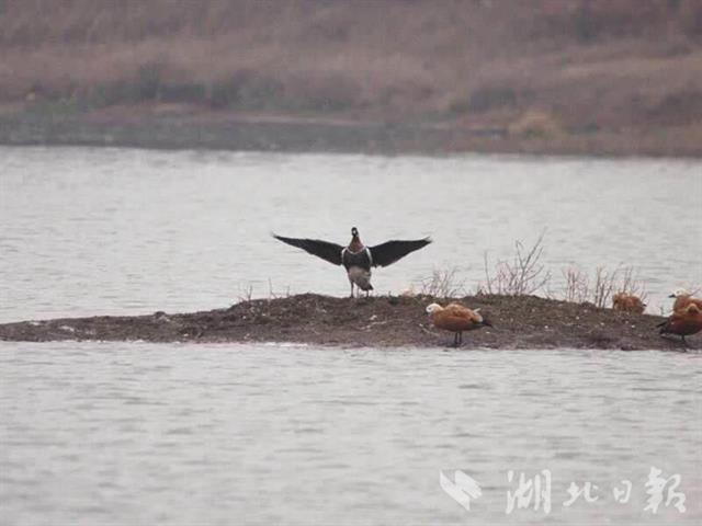
[[[702,0],[5,0],[0,54],[5,117],[304,117],[498,130],[458,150],[702,152]]]

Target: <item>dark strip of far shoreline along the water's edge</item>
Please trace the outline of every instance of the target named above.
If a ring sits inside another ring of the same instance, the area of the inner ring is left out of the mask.
[[[516,136],[499,126],[383,123],[265,115],[0,113],[0,145],[206,149],[296,153],[505,153],[596,158],[702,158],[684,128],[643,133],[571,130]]]

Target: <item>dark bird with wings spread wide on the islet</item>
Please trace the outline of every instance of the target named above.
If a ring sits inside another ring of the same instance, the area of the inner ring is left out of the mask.
[[[361,241],[359,229],[355,227],[351,228],[351,242],[348,247],[319,239],[286,238],[284,236],[278,236],[276,233],[272,233],[272,236],[279,241],[303,249],[329,263],[343,265],[347,270],[349,283],[351,284],[352,298],[354,285],[359,289],[364,290],[366,297],[370,291],[373,290],[373,285],[371,285],[372,266],[392,265],[410,252],[415,252],[431,243],[431,238],[423,238],[409,241],[393,240],[376,244],[375,247],[366,247]]]

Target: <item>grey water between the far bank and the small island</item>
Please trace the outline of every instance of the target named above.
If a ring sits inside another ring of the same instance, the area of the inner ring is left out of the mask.
[[[270,237],[434,243],[375,272],[399,293],[457,270],[468,290],[542,230],[562,268],[636,267],[650,310],[702,284],[702,162],[0,148],[0,322],[348,294],[341,268]]]

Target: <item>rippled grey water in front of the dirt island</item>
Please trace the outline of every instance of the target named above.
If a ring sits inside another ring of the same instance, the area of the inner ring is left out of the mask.
[[[0,370],[3,524],[702,519],[699,354],[4,344]],[[643,512],[652,466],[684,514]],[[506,514],[509,469],[551,470],[548,515]]]

